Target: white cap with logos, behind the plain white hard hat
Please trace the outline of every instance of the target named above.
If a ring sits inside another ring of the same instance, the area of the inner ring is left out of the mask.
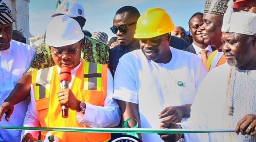
[[[51,17],[58,16],[60,14],[68,15],[69,17],[83,17],[85,18],[84,10],[81,4],[75,0],[64,0],[57,8],[56,12]]]

